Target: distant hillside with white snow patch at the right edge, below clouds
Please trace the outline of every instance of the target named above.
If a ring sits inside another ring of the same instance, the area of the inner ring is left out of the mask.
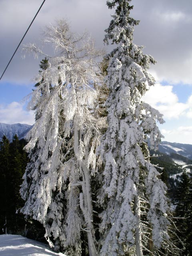
[[[159,151],[168,155],[170,155],[170,153],[177,153],[192,159],[192,145],[190,144],[162,141],[159,145]]]

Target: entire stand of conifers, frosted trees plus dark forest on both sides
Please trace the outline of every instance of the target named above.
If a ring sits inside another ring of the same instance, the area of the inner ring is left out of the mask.
[[[171,158],[151,157],[164,120],[142,101],[156,61],[134,44],[130,2],[107,1],[115,10],[108,54],[66,20],[46,28],[56,55],[25,46],[44,57],[27,142],[0,142],[2,234],[44,236],[70,256],[192,255],[192,176]]]

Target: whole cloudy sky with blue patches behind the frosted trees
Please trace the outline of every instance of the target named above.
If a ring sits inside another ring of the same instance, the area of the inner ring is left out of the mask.
[[[0,75],[42,2],[0,1]],[[143,100],[164,115],[166,122],[158,124],[163,140],[192,144],[192,1],[132,0],[131,4],[131,16],[140,20],[134,42],[145,46],[144,53],[157,61],[149,70],[156,85]],[[102,48],[113,12],[105,0],[46,0],[22,44],[42,45],[44,27],[66,18],[72,31],[81,34],[86,30]],[[23,98],[32,91],[43,57],[34,60],[22,47],[0,81],[0,122],[7,124],[34,123],[34,114],[26,110]],[[106,51],[112,49],[105,47]]]

